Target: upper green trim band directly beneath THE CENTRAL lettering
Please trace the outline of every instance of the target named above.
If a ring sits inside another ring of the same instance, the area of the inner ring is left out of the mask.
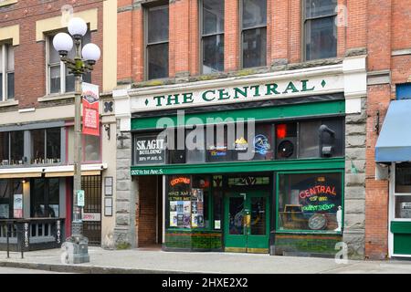
[[[276,107],[220,110],[213,112],[187,113],[184,120],[176,115],[168,117],[146,117],[132,119],[132,130],[154,130],[195,124],[215,124],[239,119],[279,120],[304,117],[319,117],[345,113],[345,100],[307,102]],[[160,122],[159,122],[160,121]],[[158,125],[159,123],[159,125]]]

